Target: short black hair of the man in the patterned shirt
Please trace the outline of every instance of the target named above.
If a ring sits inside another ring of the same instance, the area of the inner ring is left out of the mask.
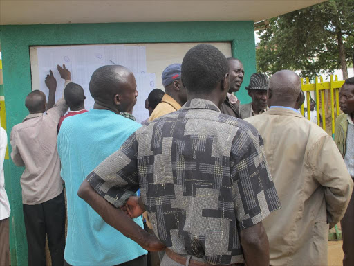
[[[215,89],[228,71],[221,51],[209,44],[199,44],[183,57],[182,82],[187,91],[208,92]]]

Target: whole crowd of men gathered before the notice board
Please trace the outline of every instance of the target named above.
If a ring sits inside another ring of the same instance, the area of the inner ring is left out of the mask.
[[[48,103],[28,94],[30,114],[10,134],[12,161],[24,166],[28,265],[46,265],[46,238],[53,266],[327,265],[339,221],[343,264],[354,265],[354,78],[340,89],[333,141],[299,113],[296,73],[252,74],[252,102],[241,105],[243,64],[211,45],[166,67],[165,92],[151,91],[141,124],[126,67],[93,73],[88,111],[84,89],[57,69],[64,97],[55,103],[50,71]],[[2,229],[10,207],[0,166]]]

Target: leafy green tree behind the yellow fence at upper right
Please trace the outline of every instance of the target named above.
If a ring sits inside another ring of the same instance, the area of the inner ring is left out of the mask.
[[[328,0],[270,19],[260,31],[257,71],[300,70],[314,77],[342,69],[353,60],[354,0]]]

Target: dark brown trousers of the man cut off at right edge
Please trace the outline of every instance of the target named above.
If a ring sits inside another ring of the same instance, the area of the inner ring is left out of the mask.
[[[344,266],[354,265],[354,193],[351,195],[351,201],[349,202],[348,208],[346,209],[346,214],[340,225],[342,227],[342,237],[343,237],[343,252]]]

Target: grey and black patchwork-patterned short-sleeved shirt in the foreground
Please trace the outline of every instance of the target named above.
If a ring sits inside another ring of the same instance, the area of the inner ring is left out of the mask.
[[[280,207],[257,130],[202,99],[141,127],[87,181],[116,207],[140,188],[160,241],[212,265],[243,263],[240,230]]]

